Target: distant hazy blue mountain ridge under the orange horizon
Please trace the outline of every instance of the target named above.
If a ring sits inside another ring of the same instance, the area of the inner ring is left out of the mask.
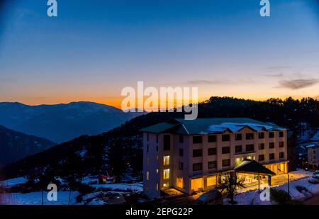
[[[113,106],[84,101],[39,106],[0,103],[1,125],[54,142],[103,133],[139,115],[141,113],[124,113]]]

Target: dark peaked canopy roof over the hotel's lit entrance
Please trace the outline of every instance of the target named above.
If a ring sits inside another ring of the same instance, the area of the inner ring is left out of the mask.
[[[247,174],[264,174],[264,175],[276,175],[270,169],[267,169],[258,162],[246,159],[237,167],[234,168],[235,172],[247,173]]]

